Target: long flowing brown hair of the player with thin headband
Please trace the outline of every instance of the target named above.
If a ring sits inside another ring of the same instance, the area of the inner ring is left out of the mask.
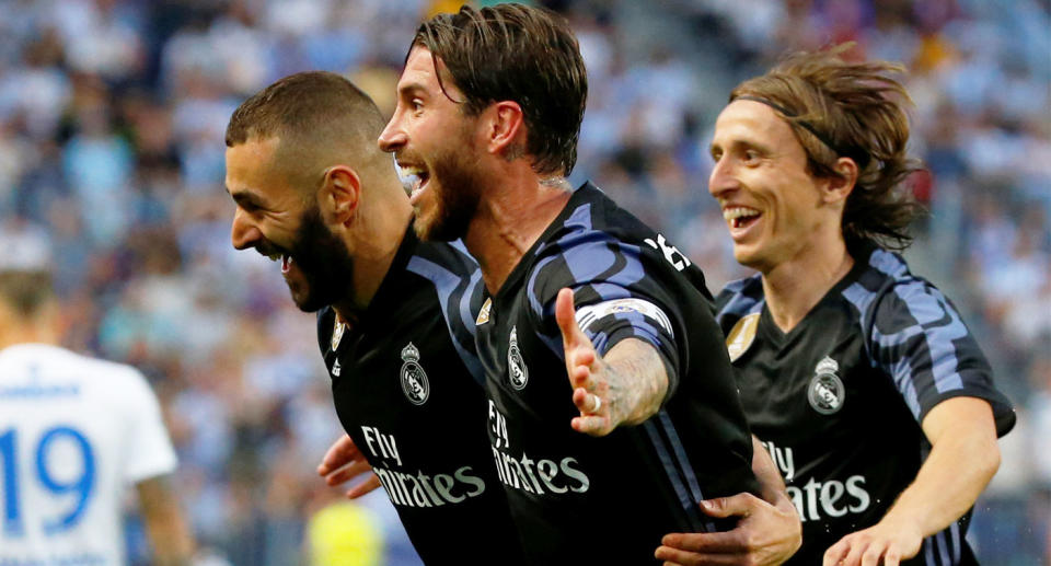
[[[904,68],[844,61],[840,55],[852,46],[790,55],[766,74],[737,85],[730,102],[759,100],[779,112],[806,150],[813,175],[836,176],[835,161],[853,159],[858,176],[843,210],[843,238],[901,250],[912,242],[909,224],[923,212],[902,186],[922,169],[905,148],[909,117],[902,105],[912,100],[888,77]]]

